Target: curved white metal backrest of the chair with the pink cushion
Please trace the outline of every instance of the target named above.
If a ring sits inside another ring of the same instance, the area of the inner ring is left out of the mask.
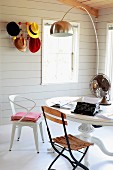
[[[15,99],[19,98],[19,100],[27,100],[27,101],[30,101],[31,102],[31,106],[28,108],[26,106],[23,106],[21,105],[20,103],[16,102]],[[35,106],[36,106],[36,103],[29,99],[29,98],[26,98],[24,96],[21,96],[21,95],[10,95],[9,96],[9,101],[10,101],[10,105],[11,105],[11,109],[12,109],[12,113],[15,114],[16,113],[16,109],[15,109],[15,105],[22,108],[22,109],[25,109],[26,112],[30,112]]]

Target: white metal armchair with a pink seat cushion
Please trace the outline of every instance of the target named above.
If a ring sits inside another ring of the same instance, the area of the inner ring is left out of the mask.
[[[13,115],[11,116],[12,134],[11,134],[9,151],[11,151],[11,148],[13,145],[16,128],[18,128],[18,139],[17,140],[19,141],[22,126],[29,126],[29,127],[33,128],[36,150],[37,150],[37,153],[39,153],[37,129],[38,129],[38,125],[39,125],[41,138],[42,138],[42,141],[44,142],[43,129],[42,129],[42,119],[43,118],[40,113],[31,112],[33,110],[33,108],[36,106],[36,103],[33,100],[28,99],[23,96],[20,96],[20,95],[10,95],[9,101],[10,101],[11,109],[12,109],[12,113],[13,113]],[[20,103],[24,103],[24,104],[20,104]],[[29,104],[29,106],[26,107],[26,105],[28,105],[28,104]],[[19,108],[22,111],[16,112],[16,110]],[[23,109],[25,110],[25,112],[23,112]]]

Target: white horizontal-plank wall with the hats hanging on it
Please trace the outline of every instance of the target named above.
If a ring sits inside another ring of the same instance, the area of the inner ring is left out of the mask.
[[[45,100],[56,96],[90,95],[89,81],[96,70],[95,35],[89,16],[73,9],[65,17],[80,23],[79,82],[60,85],[40,85],[41,50],[37,53],[18,51],[6,31],[8,22],[37,22],[43,19],[59,20],[69,6],[56,0],[0,0],[0,118],[1,124],[9,123],[10,94],[21,94],[37,102],[37,110]],[[41,38],[41,36],[40,36]]]

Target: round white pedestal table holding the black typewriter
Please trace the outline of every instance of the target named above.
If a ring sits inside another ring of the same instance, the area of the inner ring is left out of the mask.
[[[104,119],[96,116],[87,116],[87,115],[71,113],[71,109],[69,110],[69,107],[71,108],[76,106],[77,101],[82,101],[82,97],[55,97],[55,98],[48,99],[46,101],[46,104],[49,107],[51,107],[54,104],[60,104],[61,108],[55,108],[55,107],[54,108],[64,112],[67,115],[68,120],[81,123],[81,125],[78,127],[80,134],[77,137],[85,141],[90,141],[96,144],[104,154],[108,156],[113,156],[113,153],[109,152],[105,148],[103,142],[99,138],[94,137],[92,135],[92,132],[95,130],[95,128],[92,125],[113,126],[113,119],[110,120],[110,119]],[[103,106],[101,113],[112,114],[113,105]]]

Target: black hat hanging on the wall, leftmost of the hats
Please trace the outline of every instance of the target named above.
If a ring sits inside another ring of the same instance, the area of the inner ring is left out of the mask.
[[[19,26],[13,21],[7,24],[6,29],[7,29],[8,34],[11,36],[17,36],[21,30]]]

